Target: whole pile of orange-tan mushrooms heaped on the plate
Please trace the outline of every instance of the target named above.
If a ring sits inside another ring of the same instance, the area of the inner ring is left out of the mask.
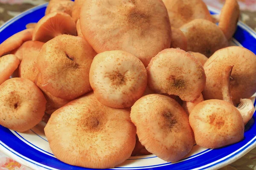
[[[229,47],[238,19],[237,0],[220,15],[202,0],[50,0],[0,44],[0,125],[43,121],[56,158],[87,168],[239,142],[256,56]]]

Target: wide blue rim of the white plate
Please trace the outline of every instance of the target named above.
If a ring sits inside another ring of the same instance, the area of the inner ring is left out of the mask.
[[[44,11],[47,3],[31,8],[11,20],[7,21],[0,27],[0,43],[6,40],[13,34],[25,29],[27,23],[35,23],[44,16]],[[218,14],[219,11],[209,7],[211,14]],[[234,40],[237,45],[241,44],[245,48],[256,54],[256,33],[239,22],[237,31],[234,35]],[[254,105],[256,102],[254,102]],[[256,114],[253,115],[253,119],[256,119]],[[186,170],[186,169],[218,169],[227,164],[236,161],[241,156],[252,150],[256,146],[256,124],[253,124],[249,130],[244,133],[244,139],[236,144],[229,145],[227,147],[207,150],[204,154],[198,154],[196,159],[188,159],[182,162],[174,164],[165,163],[153,166],[145,167],[117,167],[114,169],[173,169],[173,170]],[[29,146],[28,144],[21,141],[11,130],[0,125],[0,150],[6,155],[15,158],[21,164],[25,164],[28,167],[34,169],[47,169],[47,170],[89,170],[89,168],[76,167],[64,162],[59,161],[55,157],[46,155],[39,150]]]

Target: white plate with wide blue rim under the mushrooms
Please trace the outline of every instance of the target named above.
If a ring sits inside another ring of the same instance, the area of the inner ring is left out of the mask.
[[[46,6],[47,3],[29,9],[4,23],[0,27],[0,43],[13,34],[25,29],[27,23],[38,22],[44,16]],[[211,7],[209,7],[209,10],[212,14],[219,13],[218,10]],[[248,26],[239,22],[231,45],[244,46],[256,54],[256,33]],[[255,97],[252,99],[255,105]],[[256,119],[256,114],[250,120],[250,125],[246,126],[247,130],[244,133],[244,139],[236,144],[219,149],[207,149],[195,145],[192,152],[186,158],[176,163],[163,161],[154,155],[134,156],[113,169],[219,169],[236,161],[256,147],[256,124],[254,123],[254,119]],[[44,126],[45,123],[41,122],[25,133],[18,133],[0,126],[0,150],[12,159],[35,170],[87,169],[65,164],[56,159],[44,135]]]

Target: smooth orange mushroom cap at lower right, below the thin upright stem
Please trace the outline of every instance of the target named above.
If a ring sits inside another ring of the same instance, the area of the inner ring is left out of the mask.
[[[239,111],[223,100],[198,103],[189,115],[195,142],[202,147],[217,148],[241,141],[244,122]]]

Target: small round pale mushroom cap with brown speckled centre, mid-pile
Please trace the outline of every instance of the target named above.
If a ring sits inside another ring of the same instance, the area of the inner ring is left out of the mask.
[[[90,85],[103,105],[128,108],[143,95],[147,86],[147,71],[133,54],[105,51],[93,59]]]

